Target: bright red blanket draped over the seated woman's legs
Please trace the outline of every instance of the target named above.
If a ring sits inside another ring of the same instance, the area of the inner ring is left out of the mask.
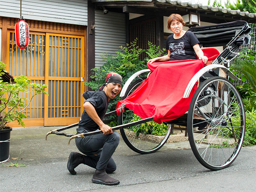
[[[150,76],[124,100],[118,101],[133,110],[141,118],[153,117],[161,124],[174,120],[188,111],[194,85],[190,96],[182,98],[192,77],[204,67],[202,60],[168,61],[148,64]]]

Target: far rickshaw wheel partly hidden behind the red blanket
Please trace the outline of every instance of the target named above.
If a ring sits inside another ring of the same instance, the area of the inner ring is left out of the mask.
[[[142,79],[138,79],[131,84],[122,99],[130,95],[142,82]],[[118,123],[126,124],[140,119],[132,110],[126,110],[118,117]],[[156,129],[161,129],[163,136],[155,136]],[[120,129],[120,132],[124,142],[130,149],[140,154],[149,154],[156,152],[166,143],[170,136],[170,125],[163,123],[159,125],[154,121],[150,121],[127,129]]]

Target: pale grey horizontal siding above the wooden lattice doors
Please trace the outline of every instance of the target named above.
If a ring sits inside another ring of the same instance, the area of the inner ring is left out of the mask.
[[[1,0],[0,16],[20,18],[20,0]],[[22,0],[24,19],[87,26],[87,0]]]

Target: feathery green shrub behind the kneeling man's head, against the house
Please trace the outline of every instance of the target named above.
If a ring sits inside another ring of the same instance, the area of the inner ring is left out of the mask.
[[[143,50],[137,46],[137,39],[129,44],[126,44],[126,47],[120,46],[120,50],[116,52],[116,56],[112,55],[103,55],[102,58],[105,61],[104,65],[100,68],[92,69],[92,80],[90,82],[85,82],[86,86],[89,86],[92,90],[98,90],[102,84],[104,84],[106,75],[109,72],[116,72],[122,76],[123,85],[124,83],[132,76],[135,72],[147,68],[147,62],[151,58],[159,56],[164,50],[159,50],[159,47],[153,45],[151,42],[148,42],[149,48]],[[140,56],[142,53],[146,52],[148,55],[147,58],[141,60]],[[110,100],[108,105],[108,111],[116,110],[116,103],[120,100],[120,97],[117,96],[113,100]],[[117,120],[116,116],[110,116],[110,119],[114,119],[110,123],[111,126],[116,126]]]

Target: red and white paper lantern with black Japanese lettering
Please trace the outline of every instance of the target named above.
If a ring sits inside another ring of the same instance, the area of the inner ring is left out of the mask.
[[[28,24],[24,19],[18,20],[18,23],[15,24],[15,37],[16,44],[19,48],[24,49],[28,46],[29,30]]]

